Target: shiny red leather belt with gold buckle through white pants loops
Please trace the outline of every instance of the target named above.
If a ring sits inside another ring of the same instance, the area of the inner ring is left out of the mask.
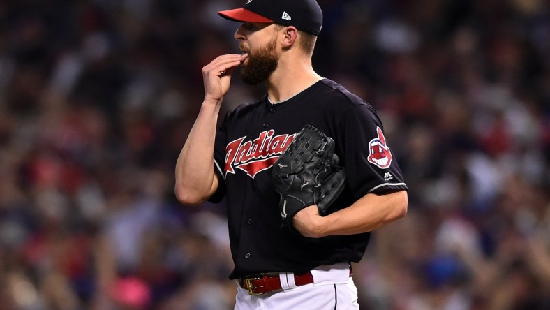
[[[304,286],[313,283],[313,275],[311,272],[305,274],[295,274],[294,283],[296,286]],[[281,279],[276,275],[258,275],[241,278],[239,284],[245,290],[248,290],[250,295],[263,295],[274,290],[281,290]]]

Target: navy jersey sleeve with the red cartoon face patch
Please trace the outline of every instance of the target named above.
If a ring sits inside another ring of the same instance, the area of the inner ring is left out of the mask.
[[[357,197],[407,189],[382,122],[370,105],[353,105],[340,124],[345,172]]]

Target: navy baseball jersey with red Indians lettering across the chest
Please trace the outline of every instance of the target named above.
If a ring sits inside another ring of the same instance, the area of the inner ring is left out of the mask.
[[[336,143],[346,186],[329,213],[367,193],[406,190],[401,170],[375,110],[344,87],[320,80],[280,103],[240,105],[216,133],[214,161],[219,184],[210,201],[225,195],[235,270],[230,279],[262,272],[306,272],[318,265],[361,260],[370,233],[307,238],[283,225],[271,170],[304,125]]]

